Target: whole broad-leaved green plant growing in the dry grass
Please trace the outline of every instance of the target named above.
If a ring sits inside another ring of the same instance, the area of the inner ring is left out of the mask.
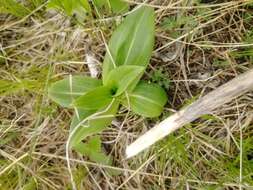
[[[49,88],[49,96],[74,110],[68,148],[99,163],[110,162],[98,136],[115,118],[120,106],[143,117],[157,117],[167,102],[163,88],[141,80],[154,46],[155,17],[150,7],[129,14],[113,32],[103,62],[102,80],[68,76]],[[87,140],[87,139],[86,139]]]

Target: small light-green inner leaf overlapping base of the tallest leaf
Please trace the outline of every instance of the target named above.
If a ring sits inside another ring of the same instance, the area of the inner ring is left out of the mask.
[[[145,67],[142,66],[119,66],[109,73],[108,78],[104,84],[114,88],[114,96],[118,96],[125,90],[128,90],[129,87],[134,88],[143,75],[144,70]]]

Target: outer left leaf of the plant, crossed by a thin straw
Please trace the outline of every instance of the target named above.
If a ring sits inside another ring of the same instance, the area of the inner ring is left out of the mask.
[[[102,83],[98,79],[87,76],[69,76],[53,83],[48,94],[53,101],[61,106],[71,107],[73,100],[101,85]]]

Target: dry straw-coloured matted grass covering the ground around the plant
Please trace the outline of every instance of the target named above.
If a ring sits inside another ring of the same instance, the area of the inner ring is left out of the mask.
[[[125,159],[126,145],[154,123],[252,67],[253,2],[212,2],[145,1],[157,13],[145,78],[167,88],[169,102],[155,120],[121,109],[102,134],[113,166],[72,152],[79,189],[253,189],[252,93]],[[48,99],[47,87],[70,73],[89,75],[87,54],[101,68],[103,36],[108,41],[115,19],[78,26],[43,5],[24,18],[0,14],[0,78],[9,82],[4,89],[0,84],[1,190],[71,189],[65,144],[72,113]]]

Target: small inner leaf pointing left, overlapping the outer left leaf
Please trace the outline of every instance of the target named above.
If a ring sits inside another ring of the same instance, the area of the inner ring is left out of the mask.
[[[86,110],[96,110],[105,107],[112,101],[110,86],[97,87],[74,101],[74,106]]]

